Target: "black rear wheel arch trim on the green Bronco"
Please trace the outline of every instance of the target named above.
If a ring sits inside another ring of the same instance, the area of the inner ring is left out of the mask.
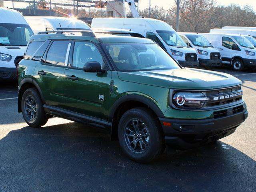
[[[28,88],[32,88],[32,87],[34,87],[38,90],[40,97],[42,99],[42,102],[45,103],[40,86],[32,78],[27,77],[27,78],[22,79],[18,86],[18,112],[21,112],[22,95]]]

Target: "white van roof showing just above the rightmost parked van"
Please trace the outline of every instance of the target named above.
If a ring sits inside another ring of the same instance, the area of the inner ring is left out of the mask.
[[[242,29],[211,29],[210,33],[214,34],[238,34],[250,35],[256,39],[256,30],[242,30]]]

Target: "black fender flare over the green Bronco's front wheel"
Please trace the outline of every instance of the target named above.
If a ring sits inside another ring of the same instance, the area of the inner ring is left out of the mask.
[[[126,101],[137,101],[137,102],[141,102],[147,106],[149,106],[158,117],[164,117],[163,112],[160,110],[160,108],[151,100],[149,100],[148,98],[145,98],[143,96],[140,95],[136,95],[136,94],[128,94],[125,96],[120,97],[112,106],[110,113],[109,113],[109,117],[111,119],[114,118],[114,114],[117,110],[117,108],[124,102]]]

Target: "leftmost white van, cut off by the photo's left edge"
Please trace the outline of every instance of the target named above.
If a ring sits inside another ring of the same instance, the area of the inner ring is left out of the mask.
[[[0,80],[16,80],[17,65],[22,60],[33,32],[22,14],[0,8]]]

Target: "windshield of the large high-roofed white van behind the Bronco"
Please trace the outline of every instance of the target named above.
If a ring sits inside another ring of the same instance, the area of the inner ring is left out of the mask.
[[[169,46],[182,46],[187,47],[187,44],[175,31],[156,31],[158,35]]]

